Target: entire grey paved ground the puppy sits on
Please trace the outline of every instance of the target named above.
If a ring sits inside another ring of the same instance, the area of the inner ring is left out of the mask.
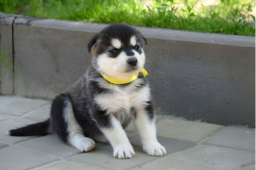
[[[158,140],[167,155],[148,156],[130,124],[130,159],[113,157],[111,145],[96,143],[88,153],[55,135],[9,136],[6,131],[45,120],[51,101],[0,95],[0,170],[2,169],[255,169],[255,129],[193,122],[156,115]]]

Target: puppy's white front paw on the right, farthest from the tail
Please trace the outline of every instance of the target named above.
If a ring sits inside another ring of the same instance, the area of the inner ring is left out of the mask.
[[[150,156],[162,156],[166,155],[165,148],[160,143],[149,143],[143,147],[143,151]]]

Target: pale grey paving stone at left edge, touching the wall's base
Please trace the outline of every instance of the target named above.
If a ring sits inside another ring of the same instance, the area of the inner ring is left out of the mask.
[[[40,99],[19,98],[17,96],[0,96],[0,113],[8,115],[22,115],[37,107],[44,106],[50,101]]]

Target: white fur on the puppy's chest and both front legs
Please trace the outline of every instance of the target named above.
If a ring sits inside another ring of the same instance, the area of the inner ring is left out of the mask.
[[[136,79],[134,83],[139,83]],[[103,82],[102,82],[103,83]],[[103,85],[103,84],[102,84]],[[148,117],[144,111],[146,101],[150,100],[150,88],[145,86],[138,92],[132,90],[133,86],[127,88],[118,88],[118,86],[108,86],[114,92],[112,95],[101,94],[95,98],[96,102],[101,106],[101,109],[108,110],[109,114],[118,111],[118,109],[125,108],[126,112],[119,112],[118,117],[127,118],[131,116],[130,108],[134,107],[137,111],[135,118],[135,125],[139,131],[141,141],[143,143],[143,150],[151,156],[161,156],[166,154],[166,150],[157,141],[155,123],[149,122]],[[130,158],[134,154],[134,150],[127,139],[124,130],[120,124],[120,118],[111,115],[112,125],[114,128],[102,129],[104,135],[109,139],[114,149],[114,157]],[[118,122],[118,120],[120,122]],[[124,153],[124,154],[123,154]],[[130,153],[130,154],[129,154]]]

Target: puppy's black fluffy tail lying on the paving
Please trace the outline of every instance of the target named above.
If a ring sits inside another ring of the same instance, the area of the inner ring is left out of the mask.
[[[9,130],[8,133],[11,136],[45,136],[51,133],[50,122],[49,119],[47,119],[45,122]]]

